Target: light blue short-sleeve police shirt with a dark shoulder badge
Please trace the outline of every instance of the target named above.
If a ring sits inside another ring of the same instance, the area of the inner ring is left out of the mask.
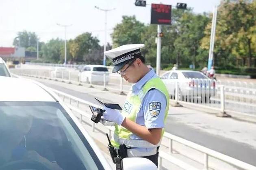
[[[150,69],[142,79],[132,85],[132,94],[138,94],[145,83],[156,77],[158,76],[155,74],[154,69]],[[148,129],[163,128],[166,104],[167,101],[165,95],[157,89],[151,89],[143,98],[141,108],[139,109],[135,122],[147,127]],[[157,114],[153,114],[152,111],[154,111],[154,109],[152,109],[152,107],[157,107],[159,112]],[[141,139],[135,134],[132,134],[130,138]],[[152,148],[138,148],[139,151],[145,152],[150,151],[151,149]]]

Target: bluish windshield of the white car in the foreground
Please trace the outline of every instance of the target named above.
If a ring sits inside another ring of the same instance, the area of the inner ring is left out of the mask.
[[[103,169],[57,102],[0,102],[0,136],[0,170]]]

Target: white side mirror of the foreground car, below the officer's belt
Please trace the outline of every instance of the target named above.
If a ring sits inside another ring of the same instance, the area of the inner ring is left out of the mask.
[[[147,158],[126,157],[122,159],[123,170],[157,170],[157,166]]]

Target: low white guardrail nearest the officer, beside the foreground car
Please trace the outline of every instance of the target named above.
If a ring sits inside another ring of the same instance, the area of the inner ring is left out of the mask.
[[[58,91],[56,89],[51,89],[52,91],[54,91],[58,96],[62,96],[62,99],[63,99],[63,102],[65,102],[65,99],[69,100],[69,104],[67,104],[67,106],[71,109],[71,110],[74,110],[75,112],[77,112],[78,114],[80,114],[80,122],[82,122],[82,117],[85,116],[87,118],[91,118],[91,116],[89,116],[88,114],[86,114],[84,111],[80,110],[79,109],[79,105],[80,104],[86,104],[86,105],[92,105],[92,106],[95,106],[95,107],[100,107],[99,105],[96,105],[96,104],[93,104],[91,102],[88,102],[88,101],[85,101],[85,100],[82,100],[80,98],[76,98],[72,95],[69,95],[69,94],[65,94],[61,91]],[[71,103],[73,102],[76,102],[76,106],[72,106]],[[87,122],[88,123],[88,122]],[[92,123],[92,130],[94,131],[95,130],[95,123],[94,122],[90,122]],[[103,126],[103,125],[102,125]],[[112,132],[114,132],[114,128],[113,127],[108,127],[108,126],[103,126],[104,128],[107,128],[108,129],[108,134],[111,135]],[[164,133],[164,138],[167,138],[169,140],[169,146],[166,146],[165,147],[168,147],[169,149],[169,153],[173,153],[173,141],[176,141],[180,144],[183,144],[187,147],[190,147],[192,149],[195,149],[197,151],[200,151],[202,153],[204,153],[204,169],[205,170],[208,170],[209,169],[209,159],[208,157],[211,156],[211,157],[215,157],[221,161],[224,161],[228,164],[232,164],[234,166],[237,166],[239,168],[243,168],[245,170],[256,170],[256,166],[252,166],[250,164],[247,164],[243,161],[240,161],[238,159],[234,159],[230,156],[227,156],[227,155],[224,155],[222,153],[219,153],[217,151],[213,151],[212,149],[208,149],[206,147],[203,147],[199,144],[196,144],[194,142],[191,142],[189,140],[185,140],[183,138],[180,138],[178,136],[175,136],[173,134],[169,134],[167,132]],[[179,159],[175,158],[175,157],[172,157],[170,154],[168,153],[165,153],[163,151],[161,151],[159,153],[159,167],[162,166],[162,159],[166,159],[167,161],[173,163],[173,164],[176,164],[177,166],[183,168],[183,169],[186,169],[186,170],[196,170],[197,168],[194,168],[193,166],[185,163],[185,162],[182,162],[180,161]]]

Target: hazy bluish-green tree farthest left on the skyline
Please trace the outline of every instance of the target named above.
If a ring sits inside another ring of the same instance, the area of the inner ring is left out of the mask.
[[[37,40],[39,38],[35,32],[27,32],[26,30],[18,32],[17,37],[13,40],[13,45],[17,47],[37,47]]]

